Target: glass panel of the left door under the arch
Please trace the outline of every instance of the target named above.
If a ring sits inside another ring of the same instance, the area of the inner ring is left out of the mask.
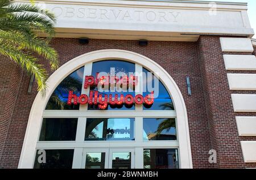
[[[104,169],[106,153],[86,153],[85,169]]]

